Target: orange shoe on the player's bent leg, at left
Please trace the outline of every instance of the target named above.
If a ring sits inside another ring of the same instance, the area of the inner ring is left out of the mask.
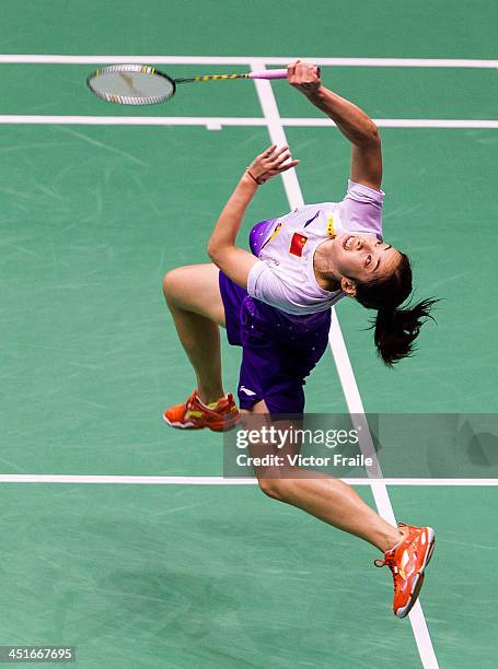
[[[164,421],[172,427],[201,430],[209,427],[215,432],[231,430],[241,419],[233,395],[220,398],[212,404],[200,401],[197,390],[186,402],[170,407],[163,413]]]

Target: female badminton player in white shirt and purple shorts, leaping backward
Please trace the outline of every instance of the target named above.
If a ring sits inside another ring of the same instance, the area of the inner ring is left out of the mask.
[[[402,307],[412,293],[409,260],[383,239],[381,140],[357,106],[323,86],[314,64],[297,61],[288,82],[337,126],[351,143],[350,178],[340,202],[308,204],[258,223],[252,253],[236,245],[244,212],[260,185],[296,167],[287,146],[269,146],[242,175],[208,244],[212,263],[181,267],[164,278],[164,294],[194,367],[196,390],[164,412],[174,427],[215,431],[240,420],[221,380],[219,326],[242,347],[239,404],[248,413],[301,416],[304,378],[327,348],[331,306],[355,298],[375,312],[374,344],[386,365],[413,351],[433,300]],[[260,476],[262,490],[334,527],[369,541],[390,566],[393,609],[407,615],[433,549],[433,530],[392,527],[338,479]],[[291,472],[292,473],[292,472]]]

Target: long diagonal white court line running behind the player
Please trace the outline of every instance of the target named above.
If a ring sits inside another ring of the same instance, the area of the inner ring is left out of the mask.
[[[251,62],[251,69],[253,71],[265,70],[266,63],[263,59],[255,58]],[[287,144],[286,133],[280,121],[280,116],[270,82],[262,79],[255,79],[254,84],[262,104],[264,116],[268,120],[268,131],[271,142],[280,145],[282,143]],[[289,172],[285,172],[282,177],[291,209],[302,206],[303,197],[296,176],[296,171],[290,169]],[[367,467],[367,473],[370,477],[382,476],[382,470],[373,447],[368,421],[364,415],[364,409],[358,385],[352,372],[351,362],[346,350],[343,332],[340,330],[339,321],[334,308],[332,308],[329,342],[349,413],[354,415],[355,424],[358,425],[359,423],[362,427],[359,439],[361,453],[366,458],[371,458],[373,462],[372,467]],[[395,526],[396,519],[394,517],[394,512],[385,482],[379,479],[371,479],[370,485],[379,514],[385,520],[387,520],[387,523]],[[427,629],[427,622],[419,600],[416,602],[409,613],[409,621],[422,666],[426,669],[433,669],[438,667],[438,660],[432,647],[432,641]]]

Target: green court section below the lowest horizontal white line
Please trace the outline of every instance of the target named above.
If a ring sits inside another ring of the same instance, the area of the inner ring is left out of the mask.
[[[390,495],[439,529],[422,600],[440,666],[494,667],[498,536],[475,518],[496,490]],[[113,669],[420,666],[372,550],[253,486],[9,484],[2,510],[2,644]]]

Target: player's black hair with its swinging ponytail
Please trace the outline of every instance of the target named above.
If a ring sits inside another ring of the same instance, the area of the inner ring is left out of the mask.
[[[412,267],[405,254],[396,269],[382,279],[367,283],[356,282],[356,298],[368,309],[377,309],[371,328],[379,355],[392,366],[414,350],[420,327],[432,318],[430,309],[438,300],[422,300],[412,307],[398,308],[412,293]]]

